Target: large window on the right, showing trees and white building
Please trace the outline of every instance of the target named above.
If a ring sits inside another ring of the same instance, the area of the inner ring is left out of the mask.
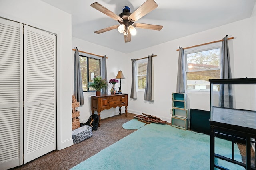
[[[209,79],[220,78],[221,43],[184,50],[188,91],[210,91]]]

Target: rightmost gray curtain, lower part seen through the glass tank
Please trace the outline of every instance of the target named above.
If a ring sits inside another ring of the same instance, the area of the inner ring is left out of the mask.
[[[228,49],[228,35],[223,38],[222,41],[222,56],[220,65],[220,78],[228,79],[231,78],[231,68],[230,68],[230,56]],[[220,85],[220,107],[233,108],[233,96],[232,96],[232,85],[223,84]]]

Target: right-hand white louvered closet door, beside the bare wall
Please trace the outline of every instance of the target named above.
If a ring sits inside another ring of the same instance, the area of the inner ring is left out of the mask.
[[[24,25],[24,163],[56,149],[56,36]]]

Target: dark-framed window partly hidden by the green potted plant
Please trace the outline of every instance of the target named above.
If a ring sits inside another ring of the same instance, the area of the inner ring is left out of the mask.
[[[94,77],[100,76],[100,59],[79,55],[82,86],[84,92],[95,91],[94,88],[89,88],[89,82],[92,82]]]

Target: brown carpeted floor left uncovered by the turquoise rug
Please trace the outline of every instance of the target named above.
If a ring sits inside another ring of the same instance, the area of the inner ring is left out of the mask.
[[[121,116],[116,115],[101,120],[101,126],[97,131],[93,131],[93,136],[81,143],[72,145],[66,149],[55,150],[22,166],[13,168],[14,170],[69,170],[80,162],[100,152],[100,150],[112,145],[123,137],[136,131],[122,127],[122,124],[133,119],[134,114],[128,113]],[[242,156],[245,156],[245,146],[238,145]],[[254,153],[252,154],[254,155]],[[252,158],[254,160],[254,157]],[[253,162],[254,164],[254,162]]]

